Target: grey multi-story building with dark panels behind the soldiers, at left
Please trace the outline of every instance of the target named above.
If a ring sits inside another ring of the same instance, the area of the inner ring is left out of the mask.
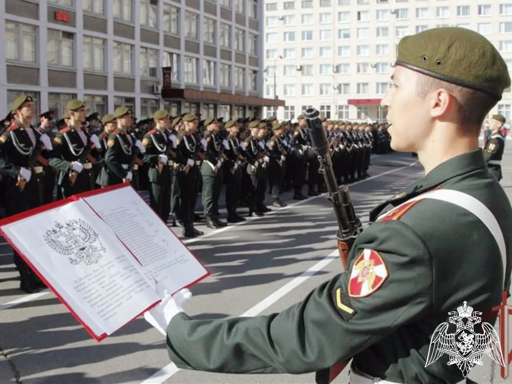
[[[159,108],[259,116],[263,9],[257,0],[4,0],[0,113],[20,93],[62,116],[68,100],[138,118]]]

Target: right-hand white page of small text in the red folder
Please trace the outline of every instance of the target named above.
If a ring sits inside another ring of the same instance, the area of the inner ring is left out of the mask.
[[[207,274],[131,186],[84,200],[169,292],[176,292]]]

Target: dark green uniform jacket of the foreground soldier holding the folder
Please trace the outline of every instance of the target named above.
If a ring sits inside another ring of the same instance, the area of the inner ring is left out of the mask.
[[[348,271],[281,313],[215,320],[175,316],[167,328],[170,358],[185,369],[299,374],[353,357],[361,371],[390,381],[461,380],[457,366],[446,365],[446,354],[425,368],[430,339],[463,301],[484,313],[500,304],[504,286],[510,287],[512,209],[478,149],[440,164],[371,217],[438,186],[472,195],[493,212],[506,243],[505,283],[498,246],[484,224],[457,205],[425,199],[399,220],[377,221],[362,231]],[[354,264],[365,249],[380,254],[388,277],[371,294],[353,297],[347,292],[361,276]]]

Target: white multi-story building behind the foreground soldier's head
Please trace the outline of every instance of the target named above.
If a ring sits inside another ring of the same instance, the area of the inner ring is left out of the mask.
[[[493,42],[512,68],[511,0],[265,0],[264,96],[293,119],[309,105],[330,119],[382,120],[401,37],[459,26]],[[505,91],[492,113],[510,119]]]

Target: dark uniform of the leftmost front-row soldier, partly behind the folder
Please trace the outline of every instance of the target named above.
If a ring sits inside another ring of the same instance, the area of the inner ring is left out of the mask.
[[[16,100],[14,105],[19,105],[14,109],[26,101],[32,101],[30,97],[22,102]],[[39,132],[32,126],[24,127],[16,120],[13,120],[8,129],[0,135],[0,176],[3,180],[3,198],[7,216],[16,215],[40,205],[37,175],[34,170],[34,164],[41,152],[39,137]],[[30,180],[24,186],[22,186],[23,181],[18,181],[22,167],[31,172]],[[14,251],[14,264],[20,275],[20,289],[27,293],[36,292],[38,285],[42,286],[42,284],[16,251]]]

